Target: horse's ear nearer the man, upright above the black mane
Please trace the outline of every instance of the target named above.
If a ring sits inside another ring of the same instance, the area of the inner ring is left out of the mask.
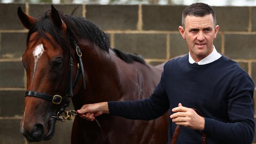
[[[63,20],[59,17],[59,12],[57,11],[57,9],[52,5],[52,10],[51,10],[51,14],[50,14],[51,20],[52,22],[60,29],[66,30],[67,26],[66,24],[63,22]]]

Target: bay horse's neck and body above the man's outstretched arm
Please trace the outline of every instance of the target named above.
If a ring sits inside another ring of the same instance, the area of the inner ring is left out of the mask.
[[[138,100],[149,96],[160,80],[161,71],[153,66],[134,62],[128,64],[95,44],[83,43],[83,63],[86,90],[80,89],[76,102],[85,103],[116,100]],[[82,86],[81,86],[82,87]]]

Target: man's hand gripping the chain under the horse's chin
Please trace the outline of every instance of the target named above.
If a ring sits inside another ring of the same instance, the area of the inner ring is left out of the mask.
[[[76,112],[80,118],[94,121],[95,116],[99,116],[103,113],[109,113],[108,102],[83,105],[81,109],[77,110]]]

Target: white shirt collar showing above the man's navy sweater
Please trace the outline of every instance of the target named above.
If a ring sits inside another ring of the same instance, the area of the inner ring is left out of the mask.
[[[202,59],[201,61],[198,61],[198,63],[195,62],[195,60],[191,57],[190,52],[189,52],[189,63],[191,63],[191,64],[197,63],[198,65],[206,65],[213,61],[216,61],[220,57],[221,57],[221,54],[219,54],[217,52],[217,50],[215,49],[215,46],[213,46],[213,51],[211,52],[211,54],[208,55],[207,57],[205,57],[204,59]]]

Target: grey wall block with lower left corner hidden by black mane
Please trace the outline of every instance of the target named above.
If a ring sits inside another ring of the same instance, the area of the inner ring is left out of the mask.
[[[104,30],[136,30],[136,5],[86,5],[86,18]]]

